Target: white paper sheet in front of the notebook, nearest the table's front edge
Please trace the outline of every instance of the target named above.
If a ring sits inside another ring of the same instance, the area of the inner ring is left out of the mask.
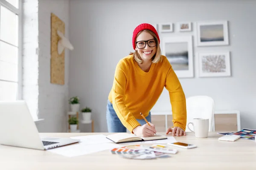
[[[82,144],[82,143],[76,143],[76,144],[70,144],[62,147],[56,147],[54,149],[49,149],[47,151],[56,153],[62,156],[74,157],[74,156],[81,156],[81,155],[86,155],[90,153],[95,153],[102,150],[111,150],[115,147],[122,147],[122,146],[118,144],[111,144],[111,143],[88,144],[88,145]]]

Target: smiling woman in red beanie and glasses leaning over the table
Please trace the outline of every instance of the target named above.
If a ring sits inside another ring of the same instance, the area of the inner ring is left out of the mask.
[[[150,110],[163,88],[169,91],[174,126],[166,134],[186,135],[186,98],[180,82],[165,56],[161,55],[156,29],[143,23],[134,29],[134,53],[121,59],[117,66],[113,87],[108,96],[108,132],[126,132],[148,137],[156,133],[140,115],[151,122]]]

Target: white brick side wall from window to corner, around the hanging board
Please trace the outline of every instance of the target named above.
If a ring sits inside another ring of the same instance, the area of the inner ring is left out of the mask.
[[[69,0],[26,0],[23,6],[23,98],[32,114],[45,119],[38,125],[39,132],[66,132],[69,51],[65,51],[65,84],[51,84],[50,35],[52,12],[64,21],[68,37]]]

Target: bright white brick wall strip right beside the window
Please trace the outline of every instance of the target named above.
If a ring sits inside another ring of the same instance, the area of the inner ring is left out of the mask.
[[[38,0],[23,3],[23,99],[34,119],[38,114]]]

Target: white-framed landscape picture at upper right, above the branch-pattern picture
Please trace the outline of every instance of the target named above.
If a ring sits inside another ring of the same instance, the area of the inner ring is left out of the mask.
[[[229,45],[227,21],[197,23],[197,45]]]

